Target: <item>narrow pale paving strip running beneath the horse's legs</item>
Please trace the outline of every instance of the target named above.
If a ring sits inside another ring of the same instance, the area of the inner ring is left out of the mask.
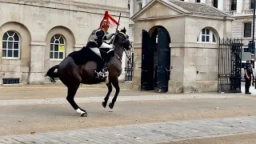
[[[243,95],[245,98],[246,96]],[[194,98],[237,98],[236,94],[164,94],[164,95],[138,95],[138,96],[118,96],[118,102],[124,101],[149,101],[168,99],[194,99]],[[240,96],[242,97],[242,96]],[[102,102],[105,97],[74,98],[77,103]],[[113,97],[110,97],[109,102]],[[14,99],[0,100],[0,106],[14,105],[34,105],[34,104],[63,104],[68,103],[66,98],[40,98],[40,99]]]

